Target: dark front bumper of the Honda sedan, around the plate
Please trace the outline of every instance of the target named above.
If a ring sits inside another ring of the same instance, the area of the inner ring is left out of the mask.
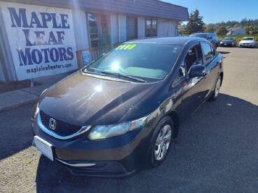
[[[61,140],[43,132],[37,121],[34,121],[33,132],[52,145],[53,160],[64,165],[73,175],[103,177],[128,176],[143,167],[151,133],[149,128],[142,128],[96,141],[89,141],[88,133]]]

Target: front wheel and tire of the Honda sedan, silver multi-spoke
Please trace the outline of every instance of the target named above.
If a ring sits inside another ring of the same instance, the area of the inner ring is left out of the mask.
[[[164,162],[171,147],[173,139],[173,121],[165,116],[156,125],[150,140],[148,162],[151,168],[157,167]]]

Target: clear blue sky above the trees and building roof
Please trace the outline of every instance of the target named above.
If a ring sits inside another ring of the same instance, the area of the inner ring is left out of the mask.
[[[206,24],[244,18],[258,19],[258,0],[162,0],[188,8],[189,14],[196,8]]]

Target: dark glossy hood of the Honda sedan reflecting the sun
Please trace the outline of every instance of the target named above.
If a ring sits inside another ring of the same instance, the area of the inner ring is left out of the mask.
[[[45,91],[38,107],[52,118],[73,125],[114,124],[156,85],[76,72]]]

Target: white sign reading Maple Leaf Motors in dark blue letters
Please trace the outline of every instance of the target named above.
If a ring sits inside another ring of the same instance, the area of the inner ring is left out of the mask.
[[[0,2],[17,80],[75,70],[71,10]]]

